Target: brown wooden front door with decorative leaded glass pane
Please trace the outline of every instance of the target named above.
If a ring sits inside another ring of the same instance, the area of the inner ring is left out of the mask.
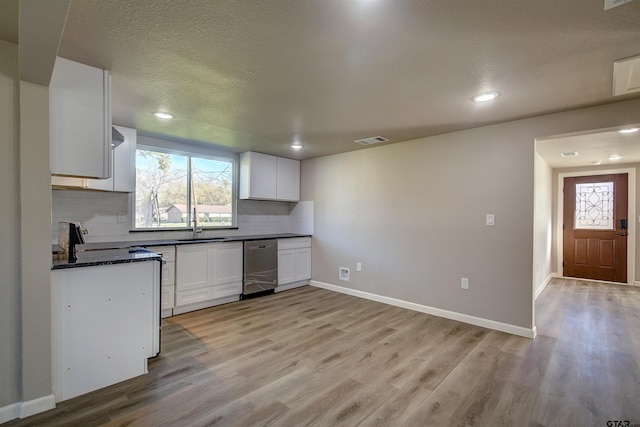
[[[564,179],[564,276],[626,283],[627,178]]]

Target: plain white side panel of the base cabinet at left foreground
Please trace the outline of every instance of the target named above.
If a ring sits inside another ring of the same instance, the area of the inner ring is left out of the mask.
[[[157,261],[52,270],[56,401],[147,372],[160,351],[159,275]]]

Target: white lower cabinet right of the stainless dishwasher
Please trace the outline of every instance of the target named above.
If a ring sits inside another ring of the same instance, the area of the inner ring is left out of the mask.
[[[278,239],[278,287],[276,292],[309,284],[311,238]]]

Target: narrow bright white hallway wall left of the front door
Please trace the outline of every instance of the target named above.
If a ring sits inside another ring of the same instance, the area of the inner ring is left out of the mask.
[[[535,295],[544,290],[553,274],[551,258],[553,239],[553,170],[535,154],[534,184],[534,265]]]

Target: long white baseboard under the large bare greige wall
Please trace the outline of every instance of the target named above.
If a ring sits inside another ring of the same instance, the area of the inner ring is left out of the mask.
[[[349,289],[342,286],[332,285],[330,283],[318,282],[316,280],[311,281],[311,286],[317,288],[328,289],[330,291],[340,292],[347,295],[352,295],[359,298],[368,299],[371,301],[381,302],[384,304],[394,305],[396,307],[402,307],[409,310],[419,311],[421,313],[431,314],[438,317],[444,317],[446,319],[457,320],[463,323],[470,323],[472,325],[481,326],[483,328],[495,329],[496,331],[506,332],[508,334],[519,335],[525,338],[535,338],[535,328],[527,329],[521,326],[510,325],[508,323],[496,322],[495,320],[483,319],[481,317],[470,316],[468,314],[457,313],[455,311],[442,310],[440,308],[429,307],[427,305],[416,304],[409,301],[403,301],[396,298],[385,297],[382,295],[371,294],[369,292],[358,291],[355,289]]]

